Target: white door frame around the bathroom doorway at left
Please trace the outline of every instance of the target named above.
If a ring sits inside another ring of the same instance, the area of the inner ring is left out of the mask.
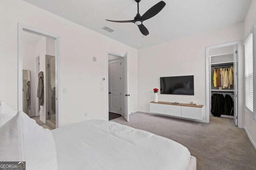
[[[22,60],[23,60],[23,31],[55,39],[55,83],[56,83],[56,128],[61,127],[61,93],[60,93],[60,36],[41,31],[22,23],[18,23],[18,110],[22,111]]]

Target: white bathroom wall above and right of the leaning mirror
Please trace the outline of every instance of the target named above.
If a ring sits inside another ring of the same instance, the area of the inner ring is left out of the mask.
[[[31,116],[36,114],[35,45],[23,42],[23,70],[30,70]]]

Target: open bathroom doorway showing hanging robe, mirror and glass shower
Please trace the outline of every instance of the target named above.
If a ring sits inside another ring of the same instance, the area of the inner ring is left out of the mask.
[[[57,40],[27,29],[20,31],[19,110],[45,129],[56,129],[59,126]]]

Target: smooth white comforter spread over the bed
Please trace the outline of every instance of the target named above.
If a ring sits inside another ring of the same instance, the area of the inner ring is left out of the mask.
[[[187,170],[179,143],[118,123],[90,120],[52,131],[59,170]]]

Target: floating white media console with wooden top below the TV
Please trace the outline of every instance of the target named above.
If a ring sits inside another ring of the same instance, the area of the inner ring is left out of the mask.
[[[172,102],[150,102],[150,112],[164,115],[203,120],[204,105],[173,104]]]

